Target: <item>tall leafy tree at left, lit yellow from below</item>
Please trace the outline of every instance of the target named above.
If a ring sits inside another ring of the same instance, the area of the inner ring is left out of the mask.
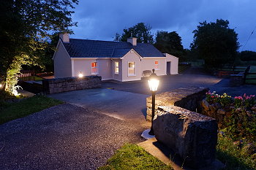
[[[4,0],[0,6],[0,80],[12,92],[23,65],[38,65],[54,32],[69,32],[78,0]]]

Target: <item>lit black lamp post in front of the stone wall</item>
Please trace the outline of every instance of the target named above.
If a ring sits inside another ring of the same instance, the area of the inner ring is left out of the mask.
[[[152,69],[152,74],[148,77],[148,85],[152,93],[152,119],[151,119],[151,129],[148,132],[150,135],[154,135],[153,130],[153,120],[154,120],[154,108],[155,108],[155,101],[156,101],[156,91],[159,85],[159,79],[157,77],[157,74],[154,73],[154,69]]]

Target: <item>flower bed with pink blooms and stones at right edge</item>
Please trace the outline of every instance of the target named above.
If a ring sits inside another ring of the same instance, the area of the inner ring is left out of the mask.
[[[256,141],[256,100],[255,95],[235,96],[226,93],[206,93],[201,103],[202,114],[217,119],[219,129],[225,128],[231,137]]]

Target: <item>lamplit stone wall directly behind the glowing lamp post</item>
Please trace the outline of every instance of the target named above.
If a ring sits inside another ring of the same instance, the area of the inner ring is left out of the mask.
[[[200,101],[206,98],[208,88],[178,88],[165,93],[156,95],[156,109],[159,106],[177,106],[190,111],[200,109]],[[152,115],[152,96],[146,98],[147,115],[146,120],[151,121]]]

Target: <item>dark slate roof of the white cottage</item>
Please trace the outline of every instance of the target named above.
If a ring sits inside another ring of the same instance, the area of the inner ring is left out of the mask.
[[[141,57],[165,57],[156,47],[146,43],[133,46],[129,42],[69,39],[63,44],[72,58],[121,58],[131,49]]]

